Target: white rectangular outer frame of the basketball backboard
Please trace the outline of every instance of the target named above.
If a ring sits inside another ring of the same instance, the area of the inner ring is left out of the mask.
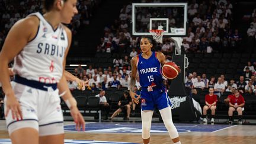
[[[133,3],[132,4],[132,34],[134,36],[144,36],[144,35],[152,35],[152,33],[136,33],[135,31],[135,22],[136,22],[136,17],[135,17],[135,7],[171,7],[171,6],[180,6],[184,7],[184,30],[181,30],[183,28],[177,28],[177,33],[169,33],[169,28],[168,28],[168,33],[164,33],[165,36],[172,36],[172,37],[184,37],[187,34],[187,3],[185,2],[167,2],[167,3]],[[180,33],[180,31],[183,31]]]

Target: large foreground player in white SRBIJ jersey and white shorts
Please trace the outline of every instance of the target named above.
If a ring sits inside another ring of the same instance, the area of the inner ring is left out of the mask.
[[[0,53],[0,81],[5,92],[5,118],[12,143],[64,143],[59,94],[71,110],[78,130],[85,130],[63,76],[78,13],[76,0],[44,0],[46,13],[30,14],[9,31]],[[9,82],[8,63],[14,59],[15,79]]]

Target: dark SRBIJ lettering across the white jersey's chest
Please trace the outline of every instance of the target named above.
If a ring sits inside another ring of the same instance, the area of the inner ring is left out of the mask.
[[[55,44],[49,43],[39,43],[37,45],[37,53],[43,53],[44,55],[51,55],[51,56],[59,56],[62,57],[65,52],[65,47],[61,47],[59,50],[59,46]]]

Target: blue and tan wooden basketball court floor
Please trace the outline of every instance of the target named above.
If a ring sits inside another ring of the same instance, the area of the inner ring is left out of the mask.
[[[177,124],[182,143],[255,143],[256,126],[227,124]],[[141,123],[88,122],[85,132],[76,132],[72,122],[65,122],[65,143],[142,143]],[[5,121],[0,121],[0,143],[9,144]],[[163,123],[152,123],[151,143],[172,143]]]

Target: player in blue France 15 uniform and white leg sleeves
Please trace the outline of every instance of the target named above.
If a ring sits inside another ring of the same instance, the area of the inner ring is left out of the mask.
[[[153,110],[158,108],[165,127],[169,132],[172,142],[180,144],[180,137],[177,129],[172,122],[171,103],[167,95],[167,90],[162,81],[161,66],[165,64],[165,56],[161,52],[152,52],[155,41],[144,36],[140,40],[140,49],[142,53],[132,58],[132,78],[130,80],[130,96],[132,100],[138,104],[139,100],[135,98],[134,86],[136,75],[139,74],[140,85],[142,91],[141,97],[141,116],[142,116],[142,139],[144,144],[148,144],[150,140],[151,121]]]

